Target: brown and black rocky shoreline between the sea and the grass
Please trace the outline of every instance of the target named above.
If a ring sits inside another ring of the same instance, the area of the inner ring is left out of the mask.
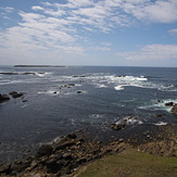
[[[106,144],[93,141],[89,135],[76,131],[42,144],[35,156],[15,160],[10,164],[1,164],[0,176],[18,177],[60,177],[68,176],[79,166],[101,159],[109,153],[121,153],[134,148],[161,156],[177,156],[177,125],[157,126],[154,131],[144,131],[129,139],[116,139]]]

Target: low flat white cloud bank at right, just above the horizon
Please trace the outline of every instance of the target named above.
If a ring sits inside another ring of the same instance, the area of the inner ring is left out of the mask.
[[[117,56],[126,60],[177,60],[177,45],[148,45],[139,51],[117,52]]]

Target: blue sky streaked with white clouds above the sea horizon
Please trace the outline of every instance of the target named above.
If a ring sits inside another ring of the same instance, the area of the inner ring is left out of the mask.
[[[0,0],[0,65],[177,67],[177,0]]]

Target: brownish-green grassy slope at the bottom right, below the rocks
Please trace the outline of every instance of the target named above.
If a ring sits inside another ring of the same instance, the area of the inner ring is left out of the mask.
[[[177,157],[163,157],[136,149],[110,154],[80,167],[73,177],[175,177]]]

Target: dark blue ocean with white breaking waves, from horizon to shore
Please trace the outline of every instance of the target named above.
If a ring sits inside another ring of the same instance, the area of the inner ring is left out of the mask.
[[[177,102],[175,67],[0,66],[0,93],[11,91],[24,96],[0,103],[1,161],[79,129],[109,139],[177,123],[165,106]],[[127,117],[124,129],[111,128]]]

